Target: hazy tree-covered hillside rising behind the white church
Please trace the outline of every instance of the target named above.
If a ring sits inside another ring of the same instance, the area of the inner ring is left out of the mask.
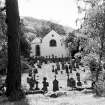
[[[27,37],[44,37],[52,29],[61,35],[66,35],[66,33],[73,31],[70,27],[62,26],[46,20],[34,19],[32,17],[24,17],[22,18],[22,21],[25,26]]]

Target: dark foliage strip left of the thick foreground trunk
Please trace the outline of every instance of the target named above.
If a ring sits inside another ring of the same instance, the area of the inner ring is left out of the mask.
[[[0,71],[6,70],[7,67],[7,26],[5,23],[5,13],[0,11]]]

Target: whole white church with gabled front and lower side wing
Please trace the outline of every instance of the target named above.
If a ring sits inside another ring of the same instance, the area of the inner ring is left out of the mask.
[[[34,57],[67,57],[68,48],[65,46],[64,35],[59,35],[54,30],[50,31],[45,37],[36,37],[31,43],[31,55]]]

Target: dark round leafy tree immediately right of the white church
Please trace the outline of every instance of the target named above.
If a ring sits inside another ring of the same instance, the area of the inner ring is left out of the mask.
[[[85,52],[88,39],[83,36],[77,36],[75,32],[69,33],[66,39],[66,46],[69,48],[71,56],[74,57],[76,53]]]

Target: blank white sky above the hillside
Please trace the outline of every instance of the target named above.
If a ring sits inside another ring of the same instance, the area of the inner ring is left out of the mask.
[[[50,20],[64,26],[76,27],[78,10],[75,0],[18,0],[20,16]]]

